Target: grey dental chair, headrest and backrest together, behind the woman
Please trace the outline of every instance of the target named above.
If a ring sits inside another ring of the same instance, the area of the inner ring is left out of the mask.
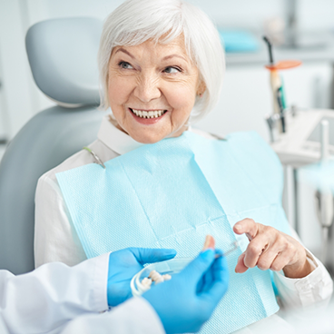
[[[26,34],[34,81],[57,105],[25,124],[0,163],[0,270],[34,270],[37,181],[97,137],[101,31],[101,21],[77,17],[40,22]]]

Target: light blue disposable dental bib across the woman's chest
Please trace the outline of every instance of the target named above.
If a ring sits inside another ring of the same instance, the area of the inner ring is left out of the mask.
[[[88,258],[126,247],[173,248],[195,257],[205,235],[228,257],[230,287],[201,333],[231,333],[277,312],[270,271],[234,272],[246,236],[232,226],[244,218],[290,234],[280,205],[282,171],[256,133],[226,141],[185,132],[104,162],[56,174]]]

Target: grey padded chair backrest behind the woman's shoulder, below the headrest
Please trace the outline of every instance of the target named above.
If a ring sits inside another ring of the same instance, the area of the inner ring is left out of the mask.
[[[55,106],[10,142],[0,163],[0,269],[34,269],[34,192],[44,172],[96,139],[102,113]],[[88,154],[88,152],[87,152]]]

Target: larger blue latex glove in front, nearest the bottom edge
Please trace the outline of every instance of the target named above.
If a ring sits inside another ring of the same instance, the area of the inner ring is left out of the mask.
[[[211,249],[201,252],[172,280],[142,295],[159,315],[167,334],[200,330],[225,294],[229,283],[227,262],[214,255]]]

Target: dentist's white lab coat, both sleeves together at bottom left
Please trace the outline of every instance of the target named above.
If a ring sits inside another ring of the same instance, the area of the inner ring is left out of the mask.
[[[19,276],[0,270],[0,334],[163,334],[142,298],[108,310],[108,260],[104,254],[72,268],[48,263]]]

